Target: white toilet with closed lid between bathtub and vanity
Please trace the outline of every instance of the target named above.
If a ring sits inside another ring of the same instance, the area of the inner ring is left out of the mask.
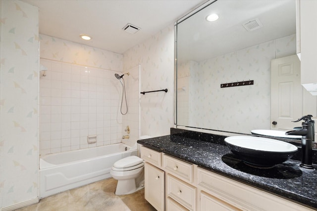
[[[115,195],[134,193],[144,186],[144,161],[137,156],[130,156],[115,162],[110,170],[118,180]]]

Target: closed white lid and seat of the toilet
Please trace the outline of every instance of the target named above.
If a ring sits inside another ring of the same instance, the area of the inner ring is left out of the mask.
[[[115,162],[111,169],[115,171],[126,171],[138,169],[143,166],[144,162],[141,158],[137,156],[130,156]]]

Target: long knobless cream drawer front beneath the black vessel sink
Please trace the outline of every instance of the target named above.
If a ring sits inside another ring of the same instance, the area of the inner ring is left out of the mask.
[[[206,191],[218,201],[230,204],[234,209],[271,211],[274,208],[274,211],[312,211],[297,203],[205,169],[198,168],[197,182],[199,190]]]

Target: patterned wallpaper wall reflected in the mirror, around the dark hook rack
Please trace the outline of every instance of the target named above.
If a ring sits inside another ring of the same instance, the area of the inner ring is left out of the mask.
[[[189,125],[243,133],[269,129],[271,60],[295,53],[291,35],[199,62],[190,69]],[[246,80],[255,84],[220,88]]]

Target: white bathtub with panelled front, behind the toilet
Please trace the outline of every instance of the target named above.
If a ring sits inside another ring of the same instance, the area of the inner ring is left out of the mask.
[[[137,155],[123,143],[45,155],[40,158],[40,198],[111,177],[114,162]]]

